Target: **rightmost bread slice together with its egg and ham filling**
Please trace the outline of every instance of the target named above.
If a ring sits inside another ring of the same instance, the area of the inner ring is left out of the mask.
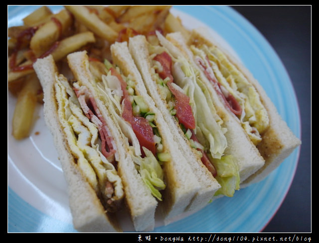
[[[263,180],[301,144],[300,139],[279,116],[258,81],[208,31],[193,29],[187,44],[179,33],[166,37],[200,69],[201,80],[213,102],[225,108],[230,120],[242,127],[248,138],[245,140],[265,160],[260,169],[244,177],[241,187]]]

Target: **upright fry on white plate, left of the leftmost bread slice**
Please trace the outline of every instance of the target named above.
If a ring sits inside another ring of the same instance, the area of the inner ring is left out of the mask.
[[[41,89],[41,85],[36,75],[29,75],[18,94],[13,113],[12,135],[15,139],[23,139],[30,134],[34,124],[34,111],[37,103],[36,94],[39,89]]]

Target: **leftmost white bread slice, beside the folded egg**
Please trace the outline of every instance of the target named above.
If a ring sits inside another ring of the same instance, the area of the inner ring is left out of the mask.
[[[51,55],[38,59],[34,70],[40,80],[44,93],[44,119],[52,133],[59,160],[68,185],[69,204],[74,228],[80,232],[118,232],[121,231],[98,199],[77,167],[58,120],[54,94],[55,74],[58,72]]]

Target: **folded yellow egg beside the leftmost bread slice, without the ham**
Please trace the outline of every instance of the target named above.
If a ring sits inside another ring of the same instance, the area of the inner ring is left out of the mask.
[[[77,165],[107,205],[124,196],[122,180],[112,163],[99,150],[95,124],[83,114],[77,98],[63,76],[56,76],[54,85],[58,116]]]

